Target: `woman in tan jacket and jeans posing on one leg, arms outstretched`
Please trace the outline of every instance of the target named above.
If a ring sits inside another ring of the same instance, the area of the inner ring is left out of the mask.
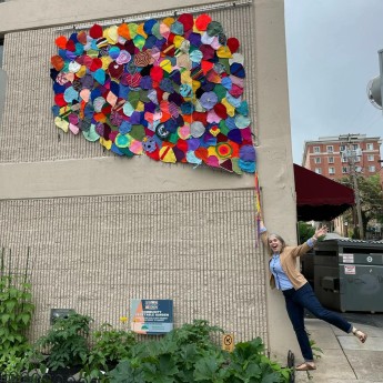
[[[304,329],[304,309],[308,309],[316,318],[343,330],[353,333],[362,343],[367,335],[355,329],[341,315],[324,309],[316,299],[308,280],[296,270],[296,258],[305,254],[314,246],[316,240],[327,233],[327,228],[322,226],[315,234],[300,246],[286,246],[284,240],[276,234],[268,235],[268,231],[261,222],[261,238],[270,252],[270,285],[272,289],[282,290],[286,303],[286,311],[294,327],[298,343],[301,347],[304,363],[295,367],[296,371],[315,370],[313,352],[308,333]]]

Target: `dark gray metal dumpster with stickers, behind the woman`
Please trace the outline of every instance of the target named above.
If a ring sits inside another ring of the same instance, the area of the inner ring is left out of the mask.
[[[314,291],[327,309],[383,312],[383,243],[329,240],[314,249]]]

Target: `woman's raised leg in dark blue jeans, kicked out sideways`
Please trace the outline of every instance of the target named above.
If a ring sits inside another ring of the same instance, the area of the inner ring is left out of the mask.
[[[353,326],[351,323],[344,320],[341,315],[322,306],[309,283],[296,290],[294,300],[295,302],[308,309],[318,319],[333,324],[334,326],[343,330],[346,333],[350,333],[352,331]]]

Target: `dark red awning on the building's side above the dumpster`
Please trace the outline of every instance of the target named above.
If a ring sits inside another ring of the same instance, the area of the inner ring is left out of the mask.
[[[354,191],[294,163],[299,221],[331,221],[355,203]]]

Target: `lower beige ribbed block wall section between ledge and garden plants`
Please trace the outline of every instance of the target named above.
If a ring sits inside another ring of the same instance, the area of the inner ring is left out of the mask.
[[[31,339],[51,309],[118,326],[140,298],[172,299],[175,325],[205,319],[236,341],[266,341],[252,190],[8,200],[0,212],[12,272],[26,272],[30,248]]]

